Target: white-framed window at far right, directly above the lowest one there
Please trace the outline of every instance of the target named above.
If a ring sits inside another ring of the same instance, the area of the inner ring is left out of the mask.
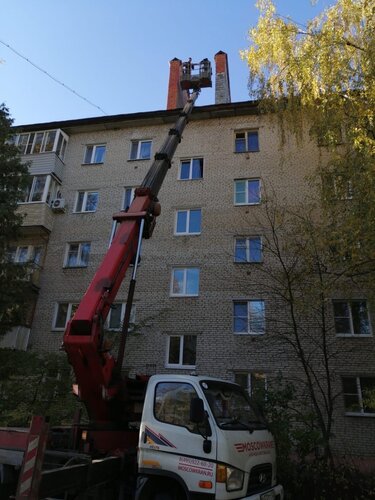
[[[371,335],[370,320],[365,300],[333,301],[337,335]]]

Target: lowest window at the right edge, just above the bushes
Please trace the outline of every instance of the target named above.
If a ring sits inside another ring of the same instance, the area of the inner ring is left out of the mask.
[[[342,386],[346,413],[375,416],[375,377],[343,377]]]

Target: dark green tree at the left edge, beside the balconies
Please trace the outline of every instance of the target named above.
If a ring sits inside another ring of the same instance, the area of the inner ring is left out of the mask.
[[[17,202],[28,183],[28,168],[11,144],[12,119],[4,104],[0,105],[0,335],[20,324],[27,299],[27,269],[9,261],[8,248],[22,224]]]

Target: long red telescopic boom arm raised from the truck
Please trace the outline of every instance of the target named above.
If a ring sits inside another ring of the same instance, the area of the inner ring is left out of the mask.
[[[208,69],[211,76],[211,68]],[[141,187],[135,192],[134,201],[128,211],[113,216],[119,223],[116,235],[64,333],[63,345],[75,372],[80,398],[96,422],[117,419],[113,401],[122,384],[119,371],[123,353],[119,353],[116,360],[106,351],[103,325],[129,265],[139,256],[141,238],[151,236],[155,218],[160,213],[157,195],[203,86],[211,86],[210,78],[209,84],[206,81],[192,83],[193,92],[156,153]]]

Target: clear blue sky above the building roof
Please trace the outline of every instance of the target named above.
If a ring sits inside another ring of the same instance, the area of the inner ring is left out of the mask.
[[[333,0],[276,0],[301,23]],[[239,50],[255,0],[2,0],[0,40],[107,114],[165,109],[169,61],[229,58],[232,101],[248,99]],[[15,125],[103,116],[0,43],[0,102]],[[213,104],[205,89],[198,105]]]

